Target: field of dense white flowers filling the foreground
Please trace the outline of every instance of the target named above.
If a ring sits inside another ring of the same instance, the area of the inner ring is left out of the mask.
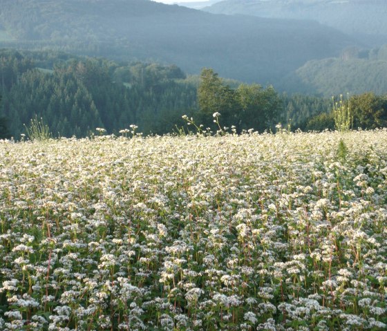
[[[386,330],[387,130],[0,142],[0,330]]]

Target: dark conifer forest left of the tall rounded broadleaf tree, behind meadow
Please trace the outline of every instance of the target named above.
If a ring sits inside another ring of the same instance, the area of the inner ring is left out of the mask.
[[[34,115],[64,137],[84,137],[96,127],[119,134],[133,123],[140,132],[162,134],[196,108],[196,86],[176,66],[118,64],[62,53],[8,54],[0,51],[3,68],[9,68],[0,115],[9,119],[14,137]],[[15,59],[30,66],[12,66]]]

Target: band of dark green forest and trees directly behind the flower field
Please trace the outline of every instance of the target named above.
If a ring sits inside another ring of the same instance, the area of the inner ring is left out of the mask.
[[[287,95],[273,86],[223,79],[211,68],[187,76],[173,65],[3,49],[0,79],[0,139],[18,140],[34,118],[55,137],[84,137],[97,127],[118,135],[131,124],[144,134],[192,130],[182,115],[215,131],[213,113],[220,113],[222,128],[237,132],[274,131],[279,122],[292,130],[334,129],[330,97]],[[355,125],[384,126],[385,98],[360,100]],[[361,115],[363,108],[368,115]]]

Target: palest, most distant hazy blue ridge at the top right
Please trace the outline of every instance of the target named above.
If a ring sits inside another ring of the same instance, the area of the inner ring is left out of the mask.
[[[368,46],[387,41],[385,0],[225,0],[205,10],[217,14],[314,19],[353,35]]]

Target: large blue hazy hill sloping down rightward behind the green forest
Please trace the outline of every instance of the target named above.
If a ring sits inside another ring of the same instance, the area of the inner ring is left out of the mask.
[[[148,0],[1,0],[0,46],[177,64],[187,73],[276,84],[346,35],[311,21],[212,15]]]

